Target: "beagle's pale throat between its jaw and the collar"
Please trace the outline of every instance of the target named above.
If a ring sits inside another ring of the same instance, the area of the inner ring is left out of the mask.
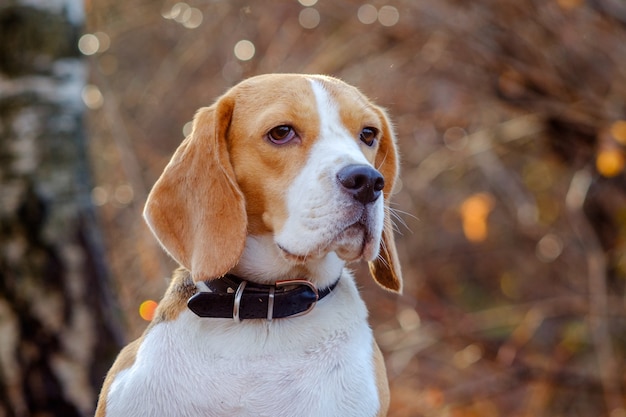
[[[241,259],[230,273],[258,284],[304,279],[317,288],[325,288],[337,280],[344,266],[345,262],[334,252],[301,261],[287,259],[268,234],[246,238]]]

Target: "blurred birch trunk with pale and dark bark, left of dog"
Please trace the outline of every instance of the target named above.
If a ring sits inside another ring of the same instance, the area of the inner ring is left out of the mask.
[[[119,350],[90,201],[82,0],[0,5],[0,417],[92,415]]]

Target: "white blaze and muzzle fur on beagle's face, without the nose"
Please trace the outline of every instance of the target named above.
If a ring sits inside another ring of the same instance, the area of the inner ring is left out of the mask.
[[[292,255],[315,258],[324,256],[337,236],[364,215],[370,219],[368,235],[379,236],[383,207],[382,199],[365,209],[355,205],[354,198],[339,184],[337,173],[345,166],[372,165],[354,138],[358,132],[348,131],[342,124],[338,103],[323,83],[309,81],[317,104],[319,136],[307,138],[315,143],[302,171],[287,188],[287,219],[275,241]],[[353,244],[361,247],[361,242]]]

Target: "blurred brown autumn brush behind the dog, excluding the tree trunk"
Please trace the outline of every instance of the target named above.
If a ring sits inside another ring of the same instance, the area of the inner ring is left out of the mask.
[[[175,268],[141,211],[195,110],[249,76],[324,73],[388,109],[402,154],[404,294],[357,268],[389,415],[626,416],[623,0],[87,0],[85,12],[89,193],[120,340],[145,329]]]

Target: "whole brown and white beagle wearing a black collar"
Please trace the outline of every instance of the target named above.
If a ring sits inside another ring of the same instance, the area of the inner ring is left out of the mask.
[[[385,112],[338,79],[257,76],[200,109],[144,211],[181,268],[96,416],[386,415],[346,264],[401,291],[397,175]]]

